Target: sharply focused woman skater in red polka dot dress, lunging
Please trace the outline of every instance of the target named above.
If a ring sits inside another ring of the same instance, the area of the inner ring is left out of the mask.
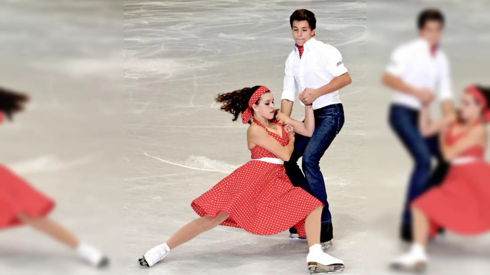
[[[188,223],[170,239],[144,254],[142,266],[153,266],[171,250],[218,225],[242,228],[258,235],[272,235],[294,226],[300,236],[308,235],[308,268],[315,272],[339,272],[343,261],[323,252],[320,219],[323,204],[291,184],[284,169],[294,149],[294,132],[311,137],[315,129],[312,106],[305,106],[304,122],[281,116],[275,121],[274,98],[265,86],[244,88],[216,97],[221,110],[242,113],[251,159],[192,202],[200,218]]]

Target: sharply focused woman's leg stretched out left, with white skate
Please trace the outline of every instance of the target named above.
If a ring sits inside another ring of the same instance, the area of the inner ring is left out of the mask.
[[[158,245],[145,253],[143,258],[139,259],[142,266],[153,266],[163,260],[172,249],[194,239],[197,235],[217,227],[229,217],[228,214],[220,212],[216,217],[200,217],[179,229],[170,239],[161,245]]]

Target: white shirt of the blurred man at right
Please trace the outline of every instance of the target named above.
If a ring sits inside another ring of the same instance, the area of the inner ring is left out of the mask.
[[[447,57],[440,48],[432,56],[424,39],[417,38],[396,48],[386,71],[412,87],[430,89],[439,101],[453,97]],[[395,91],[392,102],[416,110],[422,107],[417,97],[405,92]]]

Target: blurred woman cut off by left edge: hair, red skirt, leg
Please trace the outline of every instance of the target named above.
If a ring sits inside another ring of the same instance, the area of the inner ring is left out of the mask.
[[[3,118],[24,109],[25,94],[0,88],[0,123]],[[47,218],[54,202],[0,164],[0,229],[29,225],[72,248],[95,267],[104,267],[108,259],[96,248],[80,243],[67,229]]]

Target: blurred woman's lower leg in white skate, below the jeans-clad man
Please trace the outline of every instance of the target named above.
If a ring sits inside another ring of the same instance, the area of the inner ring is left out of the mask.
[[[427,265],[425,247],[429,238],[429,220],[417,207],[412,207],[414,242],[410,251],[392,262],[392,268],[405,271],[423,271]]]

